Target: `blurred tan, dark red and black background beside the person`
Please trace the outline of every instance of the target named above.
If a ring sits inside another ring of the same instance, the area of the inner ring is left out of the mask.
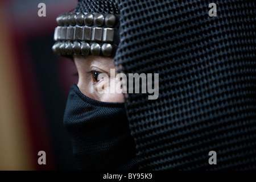
[[[39,17],[39,3],[46,17]],[[75,170],[63,126],[71,60],[52,52],[56,17],[77,0],[0,1],[0,170]],[[46,152],[46,165],[38,152]]]

